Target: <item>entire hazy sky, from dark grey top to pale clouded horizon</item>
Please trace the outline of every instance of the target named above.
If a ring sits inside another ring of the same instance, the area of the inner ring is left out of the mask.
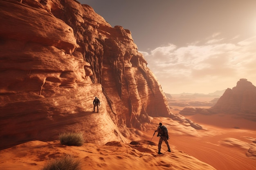
[[[256,0],[79,0],[129,29],[164,92],[256,86]]]

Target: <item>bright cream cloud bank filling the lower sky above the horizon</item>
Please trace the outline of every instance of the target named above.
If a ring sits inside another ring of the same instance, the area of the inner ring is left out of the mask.
[[[201,45],[168,44],[141,53],[166,92],[211,93],[234,87],[240,78],[256,79],[256,37],[225,43],[219,35]]]

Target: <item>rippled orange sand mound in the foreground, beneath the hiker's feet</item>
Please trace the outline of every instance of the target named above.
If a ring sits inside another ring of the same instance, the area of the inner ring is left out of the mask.
[[[82,161],[82,169],[115,170],[187,170],[200,167],[214,170],[213,167],[191,157],[186,152],[176,151],[157,155],[155,144],[149,146],[143,156],[138,150],[146,149],[148,141],[139,141],[138,146],[109,142],[104,146],[84,144],[83,146],[63,146],[59,141],[31,141],[0,152],[0,166],[4,170],[35,170],[43,167],[47,159],[72,154]],[[133,148],[132,148],[133,147]],[[137,148],[138,147],[138,148]],[[135,149],[137,148],[137,149]]]

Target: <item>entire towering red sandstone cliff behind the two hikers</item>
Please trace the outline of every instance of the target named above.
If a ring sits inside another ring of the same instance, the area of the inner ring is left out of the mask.
[[[83,131],[85,142],[125,141],[118,127],[174,116],[130,31],[88,5],[1,0],[0,15],[0,147],[65,130]]]

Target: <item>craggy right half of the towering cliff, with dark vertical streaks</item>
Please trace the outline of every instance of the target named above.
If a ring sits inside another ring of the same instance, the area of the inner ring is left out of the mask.
[[[69,0],[51,9],[54,16],[74,29],[84,60],[90,63],[92,83],[100,83],[116,124],[141,128],[150,116],[168,116],[167,100],[159,82],[146,67],[129,30],[112,28],[88,5]],[[67,15],[68,14],[72,14]]]

